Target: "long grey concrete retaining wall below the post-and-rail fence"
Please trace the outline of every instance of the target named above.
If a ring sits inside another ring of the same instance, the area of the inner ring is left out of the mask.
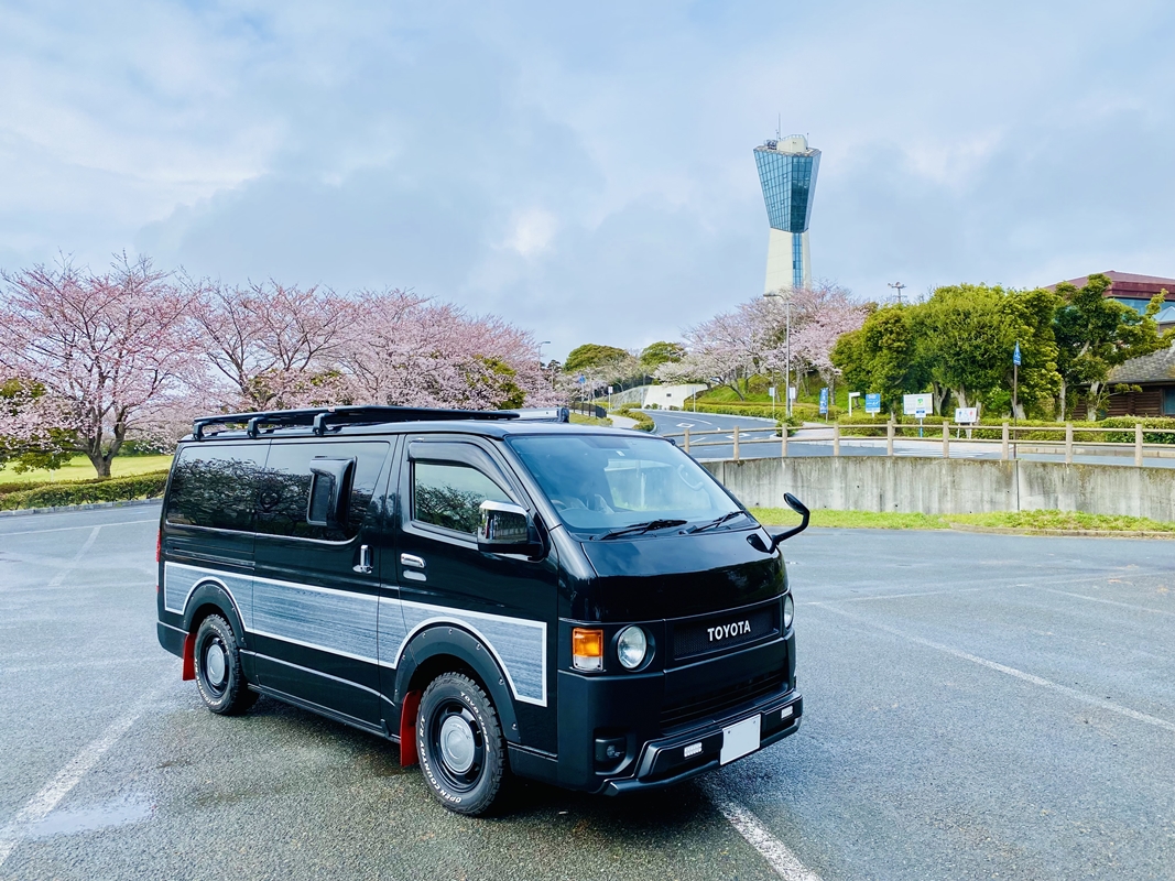
[[[743,504],[906,513],[1056,509],[1175,520],[1175,469],[886,456],[705,462]]]

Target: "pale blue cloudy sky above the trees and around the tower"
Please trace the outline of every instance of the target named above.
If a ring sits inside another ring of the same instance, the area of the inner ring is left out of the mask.
[[[562,357],[757,295],[752,148],[817,277],[1175,276],[1175,5],[0,0],[0,267],[411,288]]]

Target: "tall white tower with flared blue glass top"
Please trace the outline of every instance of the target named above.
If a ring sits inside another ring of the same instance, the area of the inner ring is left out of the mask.
[[[771,223],[764,291],[808,288],[812,268],[807,228],[820,150],[810,148],[804,135],[788,135],[756,147],[754,162]]]

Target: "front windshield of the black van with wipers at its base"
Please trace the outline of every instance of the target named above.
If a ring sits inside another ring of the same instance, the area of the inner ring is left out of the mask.
[[[563,522],[599,533],[593,538],[642,524],[653,530],[745,525],[743,510],[710,473],[664,441],[548,435],[509,443]]]

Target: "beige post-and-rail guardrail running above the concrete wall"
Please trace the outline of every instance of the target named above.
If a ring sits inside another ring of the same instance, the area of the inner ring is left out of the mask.
[[[832,429],[832,438],[831,438],[831,441],[832,441],[832,455],[833,456],[840,456],[840,439],[841,439],[840,425],[838,423],[833,423],[830,428]],[[855,432],[855,431],[860,431],[862,429],[864,430],[870,430],[872,426],[870,426],[870,425],[852,425],[851,428]],[[913,425],[899,425],[897,423],[888,422],[884,426],[882,425],[878,425],[874,430],[880,431],[882,428],[885,428],[885,432],[886,432],[885,433],[885,438],[886,438],[886,456],[893,456],[894,455],[893,442],[894,442],[894,438],[897,437],[898,430],[900,430],[900,429],[913,429],[914,426]],[[959,431],[959,432],[967,431],[968,435],[969,435],[973,430],[980,430],[980,429],[993,430],[994,428],[995,428],[994,425],[967,425],[967,424],[958,424],[958,423],[944,422],[942,423],[942,458],[946,458],[946,459],[951,458],[951,442],[952,442],[951,432],[953,430],[954,431]],[[786,457],[787,456],[787,445],[788,445],[788,443],[793,443],[793,444],[794,443],[821,443],[821,444],[824,444],[824,443],[827,443],[830,441],[830,438],[827,438],[827,437],[807,437],[807,438],[790,438],[788,437],[793,431],[798,431],[798,430],[799,429],[793,429],[793,428],[791,428],[788,425],[780,425],[779,428],[774,428],[774,429],[772,429],[772,428],[763,428],[763,429],[750,428],[750,429],[743,429],[741,426],[736,425],[733,428],[733,430],[731,430],[731,429],[713,429],[713,430],[710,430],[710,431],[692,431],[691,432],[690,429],[685,429],[685,431],[682,431],[682,432],[671,432],[671,433],[662,435],[662,437],[680,437],[680,438],[683,438],[682,449],[684,449],[686,452],[690,452],[692,449],[698,448],[698,446],[730,446],[730,445],[733,444],[733,449],[734,449],[733,459],[734,459],[734,462],[739,460],[741,446],[745,445],[745,444],[779,444],[779,446],[780,446],[780,453],[784,457]],[[774,432],[776,437],[743,437],[741,433],[743,432],[747,432],[747,431],[753,432],[753,433],[760,433],[763,431],[772,431],[772,432]],[[1122,433],[1123,431],[1129,431],[1129,429],[1080,428],[1080,429],[1077,429],[1077,431],[1080,431],[1083,435],[1085,433]],[[1059,439],[1059,441],[1028,441],[1028,442],[1020,439],[1020,437],[1022,437],[1023,435],[1041,433],[1041,432],[1058,432],[1058,433],[1063,433],[1065,438],[1063,438],[1063,441]],[[1146,435],[1175,435],[1175,429],[1144,429],[1141,423],[1135,423],[1135,425],[1134,425],[1134,442],[1133,443],[1130,443],[1130,442],[1121,442],[1121,441],[1093,441],[1093,442],[1090,442],[1090,441],[1081,441],[1081,442],[1076,442],[1075,443],[1074,439],[1073,439],[1073,435],[1074,435],[1073,423],[1066,423],[1065,425],[1056,425],[1056,426],[1041,426],[1041,425],[1015,426],[1015,425],[1012,425],[1012,423],[1007,423],[1006,422],[1001,426],[1001,437],[1000,437],[999,441],[996,441],[994,438],[973,438],[973,437],[967,437],[966,439],[964,439],[964,438],[954,438],[954,439],[958,441],[958,442],[966,442],[968,444],[992,444],[992,445],[1000,444],[1000,459],[1003,460],[1003,462],[1007,462],[1009,458],[1014,458],[1015,457],[1015,455],[1016,455],[1015,446],[1018,444],[1019,445],[1025,445],[1025,444],[1029,445],[1032,448],[1033,452],[1039,452],[1040,448],[1045,448],[1046,450],[1056,450],[1056,451],[1063,450],[1065,451],[1065,462],[1067,464],[1072,464],[1072,462],[1073,462],[1073,455],[1074,455],[1074,449],[1075,448],[1082,449],[1082,448],[1088,448],[1090,445],[1096,445],[1099,448],[1109,448],[1109,451],[1113,452],[1113,453],[1115,453],[1115,455],[1120,450],[1122,452],[1126,452],[1127,450],[1130,450],[1133,448],[1133,451],[1134,451],[1134,464],[1137,465],[1137,466],[1140,466],[1140,468],[1142,466],[1142,455],[1143,455],[1144,451],[1150,451],[1152,453],[1155,453],[1155,455],[1163,455],[1163,453],[1166,453],[1168,456],[1175,456],[1175,446],[1173,446],[1171,444],[1155,444],[1155,443],[1144,444],[1142,442],[1142,438],[1143,438],[1144,433]],[[706,436],[710,436],[710,435],[730,435],[731,439],[730,441],[697,441],[696,439],[698,437],[706,437]],[[1020,436],[1020,437],[1018,437],[1018,436]],[[848,437],[864,437],[864,436],[862,435],[853,433],[853,435],[850,435]],[[878,435],[877,437],[880,437],[880,435]],[[927,438],[927,437],[919,437],[919,438],[902,437],[902,439],[924,441],[924,442],[928,442],[928,443],[938,443],[938,438],[936,437],[929,437],[929,438]]]

